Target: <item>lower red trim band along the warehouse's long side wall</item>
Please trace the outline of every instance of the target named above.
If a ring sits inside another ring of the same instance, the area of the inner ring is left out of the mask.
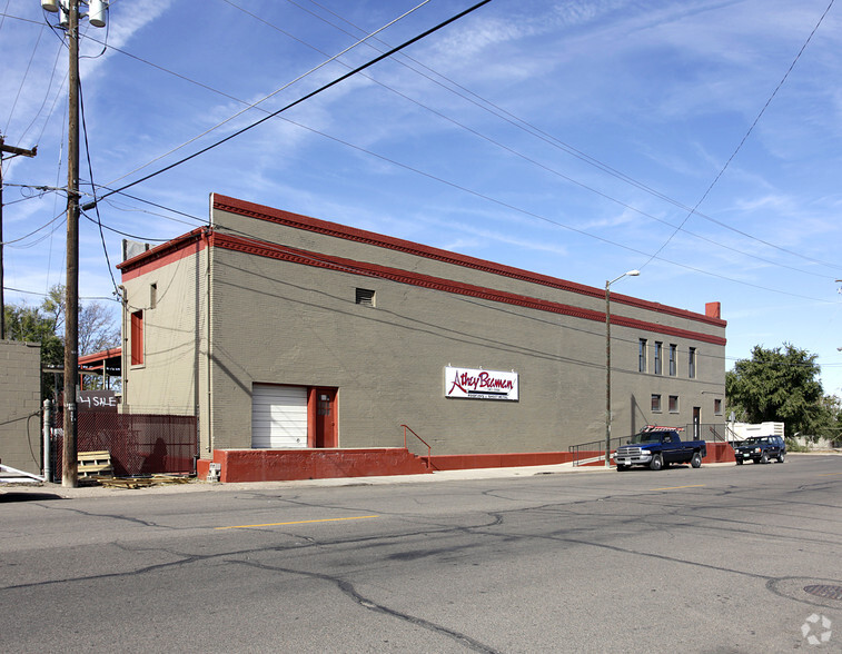
[[[364,275],[376,277],[378,279],[389,279],[399,284],[408,284],[412,286],[419,286],[423,288],[429,288],[433,290],[439,290],[444,293],[452,293],[455,295],[463,295],[468,297],[475,297],[479,299],[486,299],[491,301],[515,305],[529,309],[536,309],[539,311],[548,311],[552,314],[561,314],[565,316],[573,316],[585,320],[605,321],[605,314],[603,311],[596,311],[593,309],[585,309],[583,307],[574,307],[562,303],[554,303],[539,298],[528,297],[524,295],[517,295],[514,293],[507,293],[502,290],[493,290],[484,288],[482,286],[474,286],[472,284],[463,284],[459,281],[452,281],[449,279],[442,279],[439,277],[432,277],[429,275],[420,275],[418,272],[409,272],[407,270],[400,270],[396,268],[387,268],[376,264],[368,264],[363,261],[356,261],[353,259],[345,259],[341,257],[334,257],[328,255],[321,255],[317,252],[310,252],[307,250],[299,250],[296,248],[289,248],[279,245],[273,245],[265,241],[249,239],[238,236],[230,236],[224,234],[216,234],[214,238],[214,247],[219,247],[227,250],[244,252],[258,257],[266,257],[269,259],[277,259],[281,261],[289,261],[293,264],[300,264],[304,266],[313,266],[316,268],[326,268],[329,270],[336,270],[339,272],[349,272],[351,275]],[[670,327],[666,325],[658,325],[657,323],[648,323],[645,320],[637,320],[635,318],[626,318],[618,315],[612,315],[612,325],[631,327],[634,329],[641,329],[645,331],[655,331],[668,336],[675,336],[678,338],[687,338],[692,340],[699,340],[702,343],[711,343],[714,345],[725,345],[725,338],[720,336],[712,336],[710,334],[701,334],[699,331],[691,331],[689,329],[680,329],[677,327]]]

